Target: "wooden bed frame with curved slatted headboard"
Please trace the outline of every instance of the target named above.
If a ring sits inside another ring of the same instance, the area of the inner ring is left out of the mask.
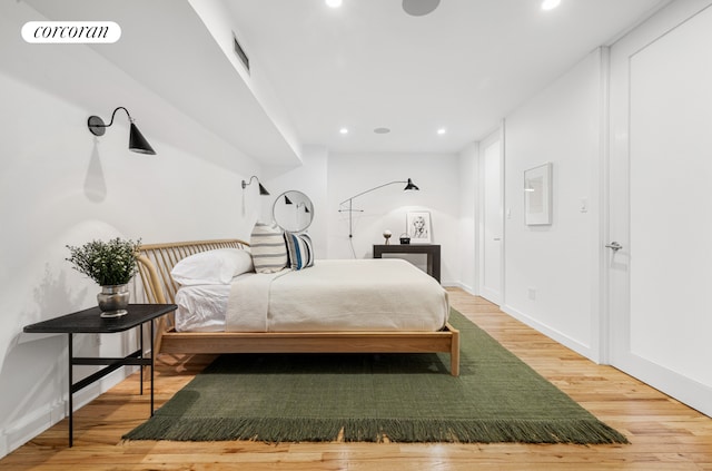
[[[239,239],[197,241],[141,246],[139,277],[148,303],[175,303],[179,285],[170,271],[180,259],[216,248],[246,248]],[[459,375],[459,331],[437,332],[176,332],[172,314],[158,321],[157,353],[429,353],[451,355]]]

